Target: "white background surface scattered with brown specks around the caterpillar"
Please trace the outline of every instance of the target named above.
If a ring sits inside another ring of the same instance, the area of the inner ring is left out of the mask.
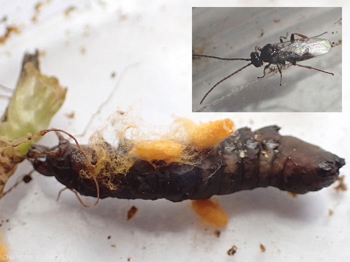
[[[118,83],[112,101],[103,108],[87,136],[79,138],[82,143],[108,115],[131,108],[149,125],[169,125],[176,116],[203,121],[229,117],[237,127],[253,129],[277,124],[282,127],[282,134],[297,136],[350,159],[346,74],[343,113],[192,114],[191,6],[199,3],[103,2],[44,1],[37,22],[33,23],[36,1],[0,1],[0,17],[7,15],[6,23],[21,29],[19,35],[11,36],[0,46],[1,84],[14,87],[24,51],[39,48],[45,52],[40,60],[43,73],[57,76],[68,87],[64,105],[52,119],[51,127],[81,133]],[[200,4],[207,6],[210,2],[200,1]],[[251,4],[260,5],[261,1]],[[294,4],[298,3],[294,1]],[[76,9],[66,17],[64,10],[72,5]],[[348,57],[348,13],[348,7],[343,6],[344,61]],[[4,24],[0,26],[3,30]],[[86,50],[84,54],[81,48]],[[347,64],[343,67],[346,72]],[[111,72],[116,72],[115,78],[110,77]],[[6,104],[5,100],[0,101],[2,110]],[[75,112],[74,119],[65,116],[71,112]],[[54,146],[57,140],[52,135],[40,143]],[[9,183],[30,170],[28,163],[20,164]],[[345,183],[350,184],[348,173],[347,166],[341,169],[341,174],[347,176]],[[33,177],[32,182],[20,185],[0,202],[0,217],[9,220],[0,227],[9,245],[9,255],[33,255],[33,261],[57,256],[57,261],[71,262],[127,261],[127,258],[130,261],[344,261],[349,255],[349,190],[336,193],[329,187],[293,199],[285,192],[267,188],[215,197],[229,217],[228,225],[220,229],[221,235],[216,238],[214,229],[199,224],[189,201],[105,199],[88,209],[68,191],[56,202],[62,185],[37,173]],[[126,222],[126,212],[132,205],[138,212]],[[330,217],[328,209],[334,211]],[[108,236],[111,236],[109,240]],[[265,253],[260,252],[260,243],[266,247]],[[113,244],[115,248],[111,247]],[[226,252],[232,245],[238,250],[229,257]]]

